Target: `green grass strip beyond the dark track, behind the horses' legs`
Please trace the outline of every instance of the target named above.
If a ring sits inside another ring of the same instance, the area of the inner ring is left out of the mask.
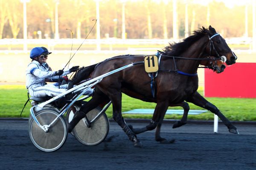
[[[203,94],[203,89],[198,89]],[[231,121],[256,121],[256,99],[247,98],[216,98],[207,97],[209,102],[216,105],[219,110]],[[25,85],[0,85],[0,117],[20,117],[27,100],[27,90]],[[154,109],[155,103],[143,102],[133,99],[125,94],[122,95],[122,112],[132,109]],[[191,110],[204,110],[192,103],[189,103]],[[28,103],[21,117],[29,117]],[[169,107],[169,109],[183,109],[181,107]],[[112,105],[106,111],[109,118],[112,118]],[[152,114],[123,114],[126,119],[151,119]],[[164,119],[181,119],[182,115],[168,114]],[[206,112],[199,115],[189,115],[189,120],[213,120],[214,114]]]

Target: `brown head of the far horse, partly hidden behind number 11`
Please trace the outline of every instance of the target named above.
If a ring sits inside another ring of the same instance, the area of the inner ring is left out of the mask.
[[[200,64],[206,66],[209,69],[212,69],[213,71],[216,71],[216,73],[221,73],[226,68],[224,62],[216,57],[209,56],[205,58],[211,60],[201,60]]]

